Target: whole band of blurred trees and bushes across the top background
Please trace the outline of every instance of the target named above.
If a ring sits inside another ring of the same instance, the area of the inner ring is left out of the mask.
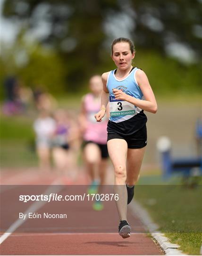
[[[119,27],[121,14],[134,20],[128,30],[137,49],[135,64],[147,73],[155,93],[200,92],[202,37],[193,33],[202,24],[200,0],[5,0],[3,15],[20,22],[21,30],[12,48],[5,46],[2,77],[15,73],[26,85],[42,84],[55,94],[83,92],[92,74],[115,68],[108,43],[113,35],[109,38],[104,25],[117,18]],[[44,23],[38,41],[23,39]],[[165,46],[172,42],[193,49],[198,63],[168,58]],[[23,52],[27,60],[19,65],[16,58]]]

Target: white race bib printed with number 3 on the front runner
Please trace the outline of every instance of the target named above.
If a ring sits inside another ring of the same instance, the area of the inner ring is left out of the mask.
[[[116,100],[115,96],[109,96],[110,116],[126,116],[135,114],[135,106],[127,101]]]

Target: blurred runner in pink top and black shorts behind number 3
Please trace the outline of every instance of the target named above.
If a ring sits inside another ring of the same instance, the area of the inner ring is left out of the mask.
[[[100,75],[94,75],[90,79],[91,92],[82,99],[81,113],[79,117],[80,128],[83,134],[83,156],[87,173],[91,178],[88,193],[101,193],[101,185],[105,182],[105,174],[108,162],[107,150],[107,118],[101,124],[97,123],[94,115],[100,110],[102,81]],[[100,184],[100,185],[99,185]],[[102,210],[101,201],[95,201],[94,210]]]

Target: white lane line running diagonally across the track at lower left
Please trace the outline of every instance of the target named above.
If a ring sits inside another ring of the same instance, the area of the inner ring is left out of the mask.
[[[49,194],[51,193],[57,193],[59,192],[63,186],[62,185],[58,185],[54,187],[54,190],[52,190],[52,185],[56,185],[58,184],[59,179],[55,180],[53,183],[50,184],[50,186],[47,188],[47,190],[45,192],[43,192],[44,194]],[[26,214],[25,216],[28,216],[29,212],[35,212],[36,210],[40,209],[44,204],[46,204],[47,201],[35,201],[25,212],[24,214]],[[3,241],[5,241],[17,228],[19,228],[26,220],[28,219],[17,219],[7,230],[6,232],[0,237],[0,244],[3,243]]]

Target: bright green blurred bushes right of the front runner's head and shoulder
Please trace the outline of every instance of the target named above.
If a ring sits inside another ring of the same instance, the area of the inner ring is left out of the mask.
[[[147,74],[155,94],[175,97],[201,92],[200,65],[186,66],[154,51],[137,51],[135,64]]]

